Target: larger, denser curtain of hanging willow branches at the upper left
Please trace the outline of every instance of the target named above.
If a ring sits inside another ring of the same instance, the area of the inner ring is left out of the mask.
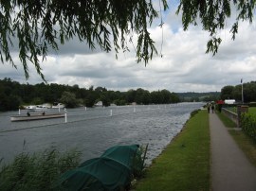
[[[166,0],[160,0],[167,9]],[[19,58],[28,75],[27,61],[38,74],[39,56],[46,59],[49,48],[78,37],[91,49],[100,46],[109,52],[128,50],[126,36],[137,34],[137,61],[145,64],[156,53],[148,27],[158,16],[151,0],[4,0],[0,2],[0,58],[16,64],[10,54],[13,41],[18,42]]]

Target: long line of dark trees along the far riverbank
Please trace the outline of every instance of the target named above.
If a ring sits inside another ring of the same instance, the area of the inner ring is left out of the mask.
[[[133,102],[137,104],[168,104],[180,101],[179,96],[168,90],[149,92],[138,88],[127,92],[109,91],[103,87],[89,89],[78,85],[46,84],[35,85],[20,84],[10,78],[0,79],[0,111],[17,110],[21,105],[39,105],[43,103],[62,102],[66,107],[72,108],[80,105],[93,107],[98,101],[103,106],[111,103],[126,105]]]

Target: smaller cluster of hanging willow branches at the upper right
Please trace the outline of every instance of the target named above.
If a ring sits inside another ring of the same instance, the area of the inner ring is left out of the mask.
[[[252,23],[255,11],[255,1],[237,1],[237,0],[181,0],[177,13],[182,11],[182,25],[187,30],[190,25],[202,24],[202,29],[210,32],[210,40],[207,43],[207,53],[212,52],[215,55],[221,43],[218,33],[226,26],[227,19],[231,15],[231,8],[236,10],[236,18],[230,28],[232,40],[238,33],[239,21],[248,20]]]

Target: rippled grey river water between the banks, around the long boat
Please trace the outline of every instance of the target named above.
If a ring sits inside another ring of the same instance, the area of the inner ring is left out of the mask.
[[[10,122],[9,116],[18,112],[0,113],[0,160],[2,165],[8,164],[24,150],[33,153],[54,147],[77,148],[85,161],[113,146],[148,144],[149,165],[183,128],[190,113],[202,106],[179,103],[68,109],[66,123],[64,118]],[[46,113],[50,112],[59,111]]]

